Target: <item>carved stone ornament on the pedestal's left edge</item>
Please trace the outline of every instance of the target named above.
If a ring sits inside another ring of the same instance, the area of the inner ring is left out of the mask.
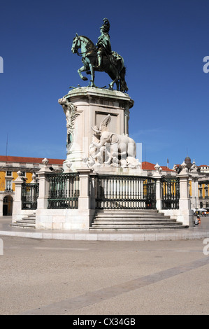
[[[73,144],[74,122],[80,114],[77,112],[77,107],[72,102],[69,102],[65,97],[58,99],[58,103],[62,105],[66,116],[67,154],[69,154],[70,148]]]

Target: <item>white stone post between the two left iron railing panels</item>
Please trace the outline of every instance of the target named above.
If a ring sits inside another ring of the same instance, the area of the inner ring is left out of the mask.
[[[37,199],[37,209],[48,209],[49,182],[48,174],[52,173],[47,167],[48,159],[43,159],[43,168],[37,172],[39,182],[39,195]]]

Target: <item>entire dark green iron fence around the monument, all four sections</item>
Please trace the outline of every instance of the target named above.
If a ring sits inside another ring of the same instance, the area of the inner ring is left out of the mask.
[[[49,174],[48,181],[48,209],[78,209],[78,173]],[[38,183],[23,183],[22,209],[37,209],[38,193]],[[156,209],[156,179],[151,177],[99,174],[91,193],[96,209]],[[179,208],[178,178],[161,179],[161,198],[162,209]]]

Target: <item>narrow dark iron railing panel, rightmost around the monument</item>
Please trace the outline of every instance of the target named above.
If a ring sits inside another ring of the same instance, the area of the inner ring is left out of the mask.
[[[161,180],[163,209],[179,209],[180,183],[178,178]]]

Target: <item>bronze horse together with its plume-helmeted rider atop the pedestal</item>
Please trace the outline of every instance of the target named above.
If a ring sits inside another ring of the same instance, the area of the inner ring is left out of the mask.
[[[116,83],[117,90],[127,92],[128,87],[125,81],[126,68],[124,66],[124,59],[117,52],[112,51],[110,44],[110,22],[107,18],[103,19],[103,25],[100,28],[101,35],[98,38],[96,45],[87,38],[87,36],[78,36],[76,33],[73,38],[71,51],[74,54],[82,56],[83,66],[78,69],[78,74],[82,80],[88,80],[87,77],[82,76],[81,72],[91,74],[90,87],[96,87],[94,84],[95,71],[102,71],[108,73],[112,82],[109,84],[109,89],[113,90]],[[80,54],[78,52],[80,49]]]

